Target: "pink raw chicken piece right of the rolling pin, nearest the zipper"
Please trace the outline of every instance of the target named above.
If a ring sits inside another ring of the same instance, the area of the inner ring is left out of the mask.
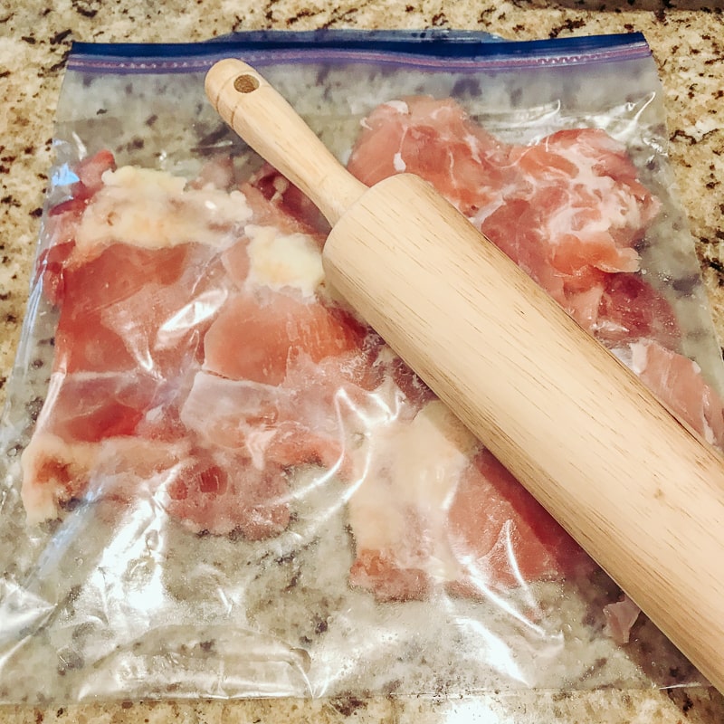
[[[660,206],[603,130],[508,145],[428,97],[373,110],[348,168],[367,185],[403,171],[430,181],[586,329],[605,325],[605,272],[638,270]]]

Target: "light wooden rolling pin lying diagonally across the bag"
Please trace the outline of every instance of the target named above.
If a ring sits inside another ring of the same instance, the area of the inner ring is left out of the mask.
[[[329,220],[328,281],[724,691],[719,453],[422,179],[367,188],[241,61],[205,87]]]

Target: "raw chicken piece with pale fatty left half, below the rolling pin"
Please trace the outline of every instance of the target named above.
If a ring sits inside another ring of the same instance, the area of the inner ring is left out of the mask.
[[[591,566],[440,401],[380,427],[349,501],[354,586],[386,601],[435,589],[482,597]]]

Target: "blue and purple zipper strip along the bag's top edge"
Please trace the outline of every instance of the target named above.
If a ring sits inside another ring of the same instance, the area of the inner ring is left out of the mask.
[[[272,63],[363,62],[444,70],[484,70],[612,62],[651,56],[642,33],[506,41],[474,31],[252,31],[203,43],[73,43],[71,71],[205,71],[229,56]]]

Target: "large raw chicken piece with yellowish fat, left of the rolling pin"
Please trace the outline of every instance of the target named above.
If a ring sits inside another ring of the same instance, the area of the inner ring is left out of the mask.
[[[59,320],[28,517],[143,494],[195,531],[278,534],[291,469],[350,472],[337,397],[378,384],[381,342],[329,300],[323,239],[285,210],[299,192],[220,189],[222,161],[191,185],[114,169],[83,162],[51,212],[40,273]]]

